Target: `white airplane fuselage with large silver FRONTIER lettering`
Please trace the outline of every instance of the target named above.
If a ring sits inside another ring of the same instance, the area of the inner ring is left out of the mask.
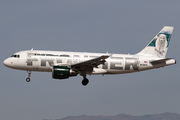
[[[27,50],[15,53],[12,57],[4,61],[4,65],[13,69],[25,71],[52,72],[52,66],[55,65],[72,65],[82,61],[90,60],[103,53],[87,52],[63,52],[63,51],[42,51]],[[105,64],[93,68],[93,72],[87,74],[123,74],[139,72],[143,70],[159,68],[175,64],[174,59],[170,59],[161,64],[152,65],[150,62],[159,60],[152,55],[124,55],[111,54],[106,59]]]

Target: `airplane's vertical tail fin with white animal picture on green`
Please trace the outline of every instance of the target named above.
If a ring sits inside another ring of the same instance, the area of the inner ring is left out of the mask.
[[[165,58],[174,27],[164,26],[162,30],[138,54]]]

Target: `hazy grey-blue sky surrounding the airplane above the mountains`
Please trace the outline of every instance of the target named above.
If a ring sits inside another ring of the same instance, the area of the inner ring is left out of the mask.
[[[69,115],[180,114],[179,0],[1,0],[0,119],[60,119]],[[55,80],[51,73],[7,68],[13,53],[56,50],[136,54],[174,26],[167,57],[176,65],[121,75]]]

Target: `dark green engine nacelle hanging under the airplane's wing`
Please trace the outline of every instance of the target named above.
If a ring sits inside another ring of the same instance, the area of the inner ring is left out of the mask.
[[[54,79],[67,79],[72,76],[77,76],[78,73],[71,70],[67,66],[53,66],[52,77]]]

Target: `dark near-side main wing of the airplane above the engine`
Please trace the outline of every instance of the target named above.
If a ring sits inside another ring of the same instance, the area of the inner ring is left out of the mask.
[[[97,67],[100,64],[104,64],[106,62],[105,59],[107,59],[110,55],[102,55],[100,57],[96,57],[93,59],[89,59],[83,62],[75,63],[71,65],[71,68],[74,70],[82,70],[82,68],[93,68]]]

